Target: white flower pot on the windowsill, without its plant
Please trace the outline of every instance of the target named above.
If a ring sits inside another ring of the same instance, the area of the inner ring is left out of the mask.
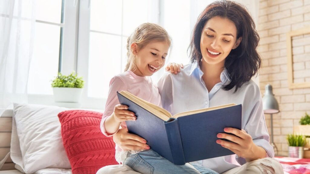
[[[55,102],[80,101],[83,88],[53,88]]]

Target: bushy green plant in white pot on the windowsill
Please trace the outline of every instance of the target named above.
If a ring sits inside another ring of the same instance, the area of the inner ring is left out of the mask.
[[[55,102],[76,102],[80,101],[84,81],[82,77],[74,71],[68,75],[62,75],[60,72],[58,76],[52,80],[52,88]]]

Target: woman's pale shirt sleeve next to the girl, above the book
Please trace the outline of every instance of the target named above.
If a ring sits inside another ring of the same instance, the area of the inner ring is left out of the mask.
[[[162,107],[169,111],[173,111],[173,85],[172,77],[166,72],[157,82],[159,94],[162,99]]]

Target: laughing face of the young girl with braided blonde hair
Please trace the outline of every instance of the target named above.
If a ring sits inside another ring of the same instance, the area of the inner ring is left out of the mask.
[[[137,44],[131,45],[133,54],[135,54],[137,76],[152,76],[165,64],[165,59],[169,50],[167,42],[151,42],[138,49]]]

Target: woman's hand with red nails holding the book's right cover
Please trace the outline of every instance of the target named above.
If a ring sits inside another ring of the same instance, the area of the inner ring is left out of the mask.
[[[218,138],[224,138],[225,140],[216,140],[216,143],[231,150],[239,157],[245,158],[246,161],[252,161],[266,156],[266,151],[259,146],[256,146],[250,134],[246,133],[245,130],[236,128],[224,128],[224,132],[232,133],[218,133]]]

